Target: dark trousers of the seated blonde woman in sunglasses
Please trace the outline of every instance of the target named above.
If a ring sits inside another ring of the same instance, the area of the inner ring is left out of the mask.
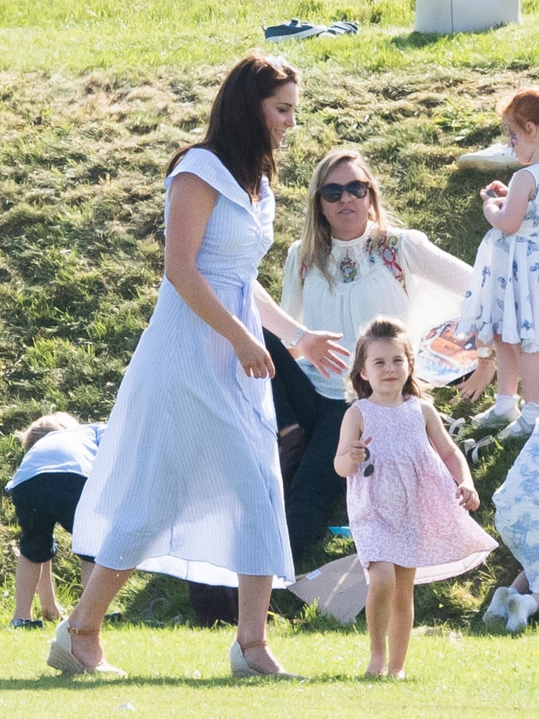
[[[295,562],[326,530],[328,508],[344,499],[346,482],[333,469],[333,457],[348,408],[345,400],[318,394],[280,339],[264,329],[264,342],[276,375],[272,380],[277,426],[298,423],[305,433],[305,454],[285,497],[286,519]]]

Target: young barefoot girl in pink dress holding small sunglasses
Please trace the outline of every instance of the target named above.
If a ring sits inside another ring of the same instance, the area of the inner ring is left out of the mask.
[[[348,477],[349,523],[369,582],[367,674],[403,678],[414,584],[466,572],[497,543],[469,516],[479,507],[469,467],[423,398],[400,321],[369,324],[350,380],[358,399],[343,419],[335,469]]]

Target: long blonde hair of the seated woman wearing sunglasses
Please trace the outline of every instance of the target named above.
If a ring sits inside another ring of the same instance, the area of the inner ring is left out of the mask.
[[[377,237],[382,237],[387,232],[388,216],[382,206],[382,194],[376,178],[364,159],[357,150],[349,148],[338,148],[331,150],[326,157],[316,165],[313,177],[307,193],[307,210],[305,222],[301,233],[300,266],[318,267],[323,276],[331,284],[328,274],[328,257],[331,252],[331,227],[322,212],[322,201],[317,190],[326,184],[328,175],[344,162],[351,162],[356,165],[369,180],[369,197],[371,206],[369,208],[369,219],[377,225]],[[377,247],[377,237],[373,237],[373,247]]]

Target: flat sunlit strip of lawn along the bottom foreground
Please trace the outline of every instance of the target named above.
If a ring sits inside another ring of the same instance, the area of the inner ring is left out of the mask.
[[[52,635],[52,632],[45,636]],[[366,679],[364,633],[282,633],[272,646],[305,682],[232,679],[231,629],[107,629],[109,661],[128,679],[63,679],[45,667],[40,631],[0,633],[0,711],[9,719],[315,718],[532,719],[539,701],[538,638],[466,637],[418,630],[404,682]]]

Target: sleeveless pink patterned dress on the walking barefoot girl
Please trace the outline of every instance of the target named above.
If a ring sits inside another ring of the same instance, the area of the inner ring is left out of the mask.
[[[456,482],[430,444],[421,403],[355,406],[372,437],[370,457],[348,477],[349,523],[361,564],[416,567],[416,584],[455,577],[484,561],[497,542],[456,498]],[[370,468],[370,465],[374,468]]]

